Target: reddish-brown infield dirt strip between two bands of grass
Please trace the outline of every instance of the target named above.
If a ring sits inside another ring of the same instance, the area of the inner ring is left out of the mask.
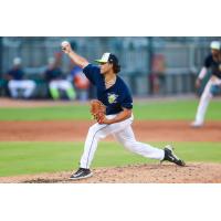
[[[92,120],[0,122],[0,141],[84,141],[92,124]],[[133,128],[137,140],[144,141],[221,140],[220,122],[207,122],[196,129],[185,120],[136,120]]]

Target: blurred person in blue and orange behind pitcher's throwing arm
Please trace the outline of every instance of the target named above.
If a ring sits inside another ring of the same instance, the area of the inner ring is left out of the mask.
[[[83,70],[75,65],[71,71],[71,78],[77,92],[77,98],[81,102],[88,99],[90,81],[86,78]]]

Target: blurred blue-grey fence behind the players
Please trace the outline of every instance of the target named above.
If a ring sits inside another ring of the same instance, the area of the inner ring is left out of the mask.
[[[192,93],[196,75],[209,53],[210,41],[220,38],[2,38],[1,76],[11,67],[13,57],[20,56],[27,76],[38,80],[46,67],[48,59],[61,53],[63,40],[70,41],[76,52],[90,62],[101,57],[104,52],[115,53],[120,61],[120,75],[134,95],[146,96],[154,93]],[[63,72],[69,74],[69,57],[62,56],[61,60]],[[158,70],[158,75],[155,69],[162,63],[164,69]],[[157,92],[156,82],[159,87]]]

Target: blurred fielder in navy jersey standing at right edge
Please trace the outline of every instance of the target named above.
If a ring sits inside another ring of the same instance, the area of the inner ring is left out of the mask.
[[[206,57],[204,65],[200,71],[200,74],[196,81],[196,87],[201,86],[202,80],[211,69],[211,76],[208,81],[202,95],[200,97],[200,103],[197,109],[194,122],[191,123],[192,127],[201,127],[204,123],[204,115],[210,103],[210,99],[221,94],[221,44],[219,41],[212,41],[210,44],[211,53]]]

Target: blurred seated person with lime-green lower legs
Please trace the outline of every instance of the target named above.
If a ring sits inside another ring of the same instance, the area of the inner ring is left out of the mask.
[[[49,84],[49,91],[53,99],[60,99],[62,97],[62,92],[65,93],[70,101],[75,99],[76,93],[74,87],[70,81],[63,78],[62,70],[55,57],[49,59],[44,78]]]

